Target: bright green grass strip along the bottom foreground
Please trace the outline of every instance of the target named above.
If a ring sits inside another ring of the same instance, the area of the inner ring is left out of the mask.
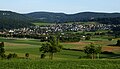
[[[119,69],[120,60],[0,60],[0,69]]]

